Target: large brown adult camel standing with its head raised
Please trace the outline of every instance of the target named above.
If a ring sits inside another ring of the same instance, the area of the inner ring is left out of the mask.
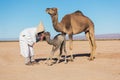
[[[85,35],[90,44],[91,53],[89,60],[94,60],[96,50],[94,23],[88,17],[86,17],[81,11],[76,11],[74,13],[65,15],[62,18],[61,22],[58,22],[57,8],[47,8],[46,12],[51,16],[54,29],[57,32],[68,34],[71,60],[73,61],[72,55],[73,35],[81,32],[85,32]]]

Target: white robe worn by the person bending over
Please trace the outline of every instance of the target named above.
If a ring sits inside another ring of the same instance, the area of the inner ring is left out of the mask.
[[[36,29],[27,28],[20,33],[20,53],[25,58],[34,55],[33,44],[36,43]]]

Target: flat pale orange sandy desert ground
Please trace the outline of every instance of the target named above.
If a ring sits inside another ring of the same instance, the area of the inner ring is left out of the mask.
[[[120,41],[97,41],[94,61],[88,60],[88,41],[74,41],[73,45],[74,62],[47,66],[52,46],[39,42],[34,47],[39,64],[26,66],[18,42],[0,42],[0,80],[120,80]]]

